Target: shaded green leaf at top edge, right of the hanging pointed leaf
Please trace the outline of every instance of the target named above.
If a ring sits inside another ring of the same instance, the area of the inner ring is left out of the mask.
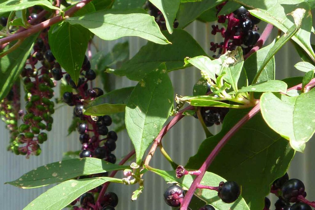
[[[222,2],[224,0],[181,2],[176,16],[179,23],[178,28],[185,28],[203,12]]]

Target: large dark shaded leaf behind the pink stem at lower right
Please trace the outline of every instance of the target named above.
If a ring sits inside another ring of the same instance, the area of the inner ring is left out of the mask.
[[[186,168],[198,169],[222,137],[249,110],[230,110],[220,133],[203,141]],[[293,156],[289,142],[272,131],[258,113],[231,137],[208,171],[237,182],[242,186],[242,196],[249,208],[263,209],[272,182],[284,175]]]

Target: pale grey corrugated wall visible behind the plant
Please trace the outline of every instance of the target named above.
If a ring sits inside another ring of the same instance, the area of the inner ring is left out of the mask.
[[[263,27],[261,27],[263,28]],[[213,36],[210,33],[211,24],[204,24],[201,22],[194,22],[187,27],[192,36],[199,42],[199,44],[206,50],[209,55],[209,43],[213,41]],[[276,36],[275,30],[273,35]],[[140,38],[123,38],[116,41],[103,41],[95,38],[95,43],[101,50],[110,51],[112,47],[123,41],[129,41],[130,57],[135,55],[141,46],[146,44],[146,40]],[[215,40],[220,42],[220,40]],[[271,39],[269,40],[271,41]],[[300,59],[295,52],[292,44],[286,44],[276,57],[276,78],[282,79],[285,77],[301,75],[293,66],[299,62]],[[175,71],[169,74],[172,79],[175,93],[179,95],[192,95],[192,87],[194,83],[200,78],[200,73],[195,68],[187,68],[185,70]],[[97,82],[100,85],[100,82]],[[130,81],[125,77],[115,78],[115,88],[127,87],[135,85],[134,81]],[[58,96],[58,91],[57,91]],[[45,165],[50,162],[59,161],[62,158],[63,152],[80,149],[78,135],[73,132],[67,137],[67,128],[72,119],[72,108],[63,106],[58,108],[54,114],[53,129],[49,132],[49,140],[42,146],[42,154],[38,157],[31,156],[29,160],[25,156],[16,156],[6,151],[8,144],[8,131],[4,128],[4,123],[0,122],[0,183],[14,180],[22,174],[34,169],[38,166]],[[219,126],[212,127],[211,131],[216,133],[220,130]],[[188,158],[196,153],[200,143],[205,138],[203,130],[198,124],[198,120],[192,117],[186,117],[163,138],[163,146],[169,152],[169,155],[179,164],[185,164]],[[315,182],[313,177],[315,175],[315,161],[312,149],[315,147],[315,141],[310,140],[307,143],[305,154],[298,153],[292,161],[289,175],[290,177],[300,178],[306,185],[306,191],[310,200],[315,200]],[[126,132],[118,134],[117,149],[115,155],[119,160],[129,151],[132,150],[132,144]],[[160,152],[151,161],[153,167],[164,170],[171,170],[169,163],[164,160]],[[121,172],[118,176],[121,176]],[[121,184],[111,184],[110,190],[116,192],[119,196],[120,202],[117,210],[162,210],[170,209],[163,201],[163,191],[166,184],[162,178],[152,174],[146,173],[145,189],[138,201],[132,202],[130,200],[132,191],[137,186],[125,186]],[[23,209],[30,201],[38,195],[47,190],[48,187],[22,190],[11,185],[0,185],[0,208],[1,209]],[[275,199],[273,199],[274,201]]]

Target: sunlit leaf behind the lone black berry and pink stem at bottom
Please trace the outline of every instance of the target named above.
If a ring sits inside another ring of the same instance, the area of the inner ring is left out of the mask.
[[[194,177],[192,175],[185,175],[182,178],[178,179],[175,176],[175,171],[162,171],[159,169],[148,167],[148,169],[157,175],[164,178],[164,180],[167,183],[177,183],[179,184],[184,190],[188,190],[190,185],[192,184],[192,181],[194,180]],[[226,180],[214,173],[206,172],[203,176],[203,179],[201,183],[203,185],[208,186],[219,186],[220,182],[226,182]],[[249,207],[247,206],[246,202],[242,198],[242,196],[239,196],[238,200],[236,200],[233,203],[224,203],[219,197],[218,192],[215,190],[201,190],[197,189],[195,192],[195,195],[205,201],[206,203],[211,204],[216,209],[233,209],[233,210],[249,210]]]

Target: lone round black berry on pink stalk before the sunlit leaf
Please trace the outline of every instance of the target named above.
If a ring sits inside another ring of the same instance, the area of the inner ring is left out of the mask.
[[[240,188],[236,182],[227,181],[219,189],[218,196],[225,203],[232,203],[238,199],[241,194]]]

